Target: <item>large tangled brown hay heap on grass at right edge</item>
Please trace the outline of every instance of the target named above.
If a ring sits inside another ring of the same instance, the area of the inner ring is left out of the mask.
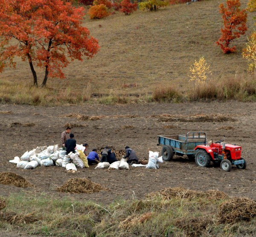
[[[218,207],[218,223],[233,223],[238,219],[250,220],[256,216],[256,202],[250,198],[233,197]]]

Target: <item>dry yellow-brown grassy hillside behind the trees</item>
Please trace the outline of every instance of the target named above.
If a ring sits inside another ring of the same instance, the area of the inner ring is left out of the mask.
[[[246,35],[234,41],[237,51],[224,55],[215,43],[222,26],[218,12],[222,2],[180,4],[130,16],[116,13],[102,20],[89,20],[86,15],[84,26],[99,40],[99,53],[88,61],[72,62],[64,69],[67,78],[49,78],[48,87],[57,91],[70,87],[69,92],[83,91],[85,97],[92,92],[148,94],[159,85],[176,85],[186,91],[193,86],[188,83],[189,66],[201,56],[210,65],[214,80],[247,77],[241,51],[254,28],[255,13],[248,13]],[[246,7],[246,0],[241,3]],[[32,85],[28,62],[17,61],[16,69],[7,68],[0,74],[2,82]],[[38,73],[38,78],[42,77],[43,71]],[[129,84],[133,84],[131,88],[126,87]]]

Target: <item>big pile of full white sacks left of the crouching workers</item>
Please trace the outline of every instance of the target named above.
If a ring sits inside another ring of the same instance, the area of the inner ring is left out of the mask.
[[[81,145],[77,145],[76,153],[70,152],[66,154],[65,150],[62,150],[62,148],[59,149],[58,144],[48,147],[37,147],[33,150],[26,151],[20,158],[15,156],[9,162],[15,163],[18,168],[23,169],[35,169],[38,166],[52,166],[55,162],[56,166],[62,166],[67,170],[76,171],[76,167],[85,167],[83,160],[79,157],[79,148],[81,150],[83,149]]]

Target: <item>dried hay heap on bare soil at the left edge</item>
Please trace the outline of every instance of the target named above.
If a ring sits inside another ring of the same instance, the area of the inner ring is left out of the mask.
[[[0,184],[14,185],[20,188],[27,188],[33,186],[31,182],[27,181],[22,176],[14,172],[1,172]]]

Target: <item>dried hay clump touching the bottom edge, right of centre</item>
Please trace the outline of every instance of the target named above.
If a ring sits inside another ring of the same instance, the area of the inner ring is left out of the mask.
[[[186,236],[201,236],[201,232],[208,231],[213,224],[209,217],[191,217],[177,220],[176,225],[186,231]]]

